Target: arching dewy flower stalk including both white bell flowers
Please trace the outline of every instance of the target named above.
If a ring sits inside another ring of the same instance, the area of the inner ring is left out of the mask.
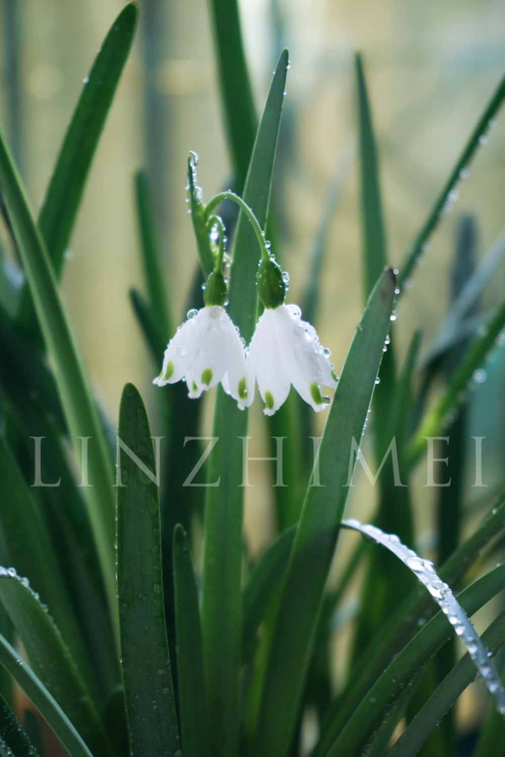
[[[310,323],[301,320],[296,305],[286,305],[287,275],[282,273],[270,245],[265,241],[251,208],[233,192],[221,192],[207,206],[195,186],[198,157],[189,155],[188,189],[192,221],[197,237],[198,253],[204,270],[214,263],[204,289],[205,307],[190,311],[189,319],[180,326],[165,351],[163,370],[154,383],[163,386],[185,378],[190,397],[222,383],[223,388],[238,401],[238,407],[249,407],[254,400],[257,382],[268,416],[279,410],[288,397],[291,384],[316,412],[325,410],[329,397],[323,386],[335,388],[338,378],[325,350]],[[257,288],[265,310],[257,322],[245,360],[244,344],[238,329],[223,309],[227,298],[227,282],[223,276],[223,223],[213,212],[223,200],[232,200],[251,221],[260,245],[261,259],[257,271]],[[219,230],[219,250],[214,258],[210,230]]]

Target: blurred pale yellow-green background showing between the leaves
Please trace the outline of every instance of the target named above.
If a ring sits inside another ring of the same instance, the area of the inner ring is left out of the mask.
[[[121,5],[120,0],[0,0],[0,123],[34,209],[44,195],[83,78]],[[206,3],[140,0],[139,6],[139,32],[86,185],[66,254],[63,290],[95,391],[112,422],[117,422],[123,385],[132,381],[146,397],[156,428],[160,390],[152,387],[151,379],[160,366],[148,354],[128,297],[131,285],[145,289],[133,173],[145,167],[151,183],[174,322],[185,317],[197,265],[185,204],[189,150],[200,157],[198,184],[205,200],[227,188],[231,175]],[[314,325],[339,372],[363,309],[354,51],[363,53],[376,126],[388,259],[401,266],[503,76],[505,7],[498,0],[242,0],[239,6],[258,114],[279,53],[285,46],[290,50],[273,188],[278,254],[291,276],[288,299],[298,302],[315,240],[322,226],[326,229]],[[505,225],[505,117],[501,114],[488,144],[469,167],[459,195],[453,212],[432,236],[398,307],[399,360],[414,328],[422,327],[425,347],[438,331],[449,301],[450,269],[461,224],[472,223],[476,260]],[[2,264],[16,276],[8,242],[0,241]],[[502,264],[485,290],[482,307],[503,298],[504,284]],[[502,353],[488,366],[487,381],[469,404],[469,438],[486,437],[487,491],[502,480]],[[210,428],[212,401],[210,392],[203,431]],[[322,428],[323,418],[317,421]],[[251,455],[268,454],[258,403],[251,428]],[[366,438],[363,451],[371,462]],[[472,491],[472,460],[469,455],[468,507],[484,491]],[[347,514],[366,519],[373,512],[375,492],[360,469],[355,481]],[[425,481],[422,464],[413,476],[413,498],[419,548],[429,553],[432,493],[423,488]],[[251,553],[257,555],[274,531],[270,469],[251,464],[251,483],[255,485],[247,491],[245,526]],[[469,528],[473,522],[469,519]],[[346,536],[345,545],[350,547],[351,540]],[[342,559],[346,553],[347,546],[341,550]],[[351,590],[344,605],[349,616],[354,601]],[[335,631],[337,682],[345,666],[345,612]],[[475,707],[474,699],[471,709],[478,718],[482,710]],[[471,727],[468,712],[461,719]]]

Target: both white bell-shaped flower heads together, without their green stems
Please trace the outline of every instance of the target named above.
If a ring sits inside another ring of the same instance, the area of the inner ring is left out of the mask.
[[[257,382],[267,416],[279,410],[291,384],[317,412],[329,405],[323,385],[337,385],[329,350],[320,345],[313,326],[301,320],[300,308],[285,304],[264,310],[248,349],[220,305],[190,311],[165,351],[154,384],[182,378],[189,397],[200,397],[221,382],[241,410],[252,404]]]

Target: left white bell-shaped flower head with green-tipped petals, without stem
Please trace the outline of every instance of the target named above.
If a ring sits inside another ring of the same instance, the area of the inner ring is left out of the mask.
[[[244,342],[220,305],[188,313],[165,350],[163,369],[153,384],[164,386],[185,378],[189,397],[222,383],[243,410],[247,399]]]

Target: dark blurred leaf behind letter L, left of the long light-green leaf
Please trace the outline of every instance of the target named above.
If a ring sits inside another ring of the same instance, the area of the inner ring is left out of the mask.
[[[4,404],[4,402],[8,404]],[[35,472],[35,444],[31,437],[43,437],[42,481],[56,482],[59,487],[38,487],[31,490],[45,530],[51,540],[55,559],[63,568],[61,576],[67,587],[67,599],[72,604],[89,657],[94,662],[95,678],[105,696],[119,681],[120,670],[114,650],[111,620],[101,580],[98,556],[89,525],[83,489],[76,485],[70,460],[64,450],[61,433],[66,423],[55,386],[55,380],[42,362],[38,350],[20,326],[10,321],[0,308],[0,402],[3,409],[14,413],[19,425],[22,445],[16,450],[17,465],[24,481],[33,483]],[[11,422],[8,422],[11,426]],[[115,440],[114,440],[115,441]],[[22,447],[22,448],[21,448]],[[2,509],[0,508],[0,515]],[[25,535],[26,538],[26,535]],[[28,553],[30,554],[30,553]],[[28,555],[24,553],[24,559]],[[8,564],[17,564],[14,559]],[[0,559],[2,564],[2,559]],[[5,564],[5,561],[3,561]],[[35,577],[26,566],[17,565],[21,575]],[[39,572],[35,571],[36,578]],[[40,575],[44,575],[41,572]],[[40,591],[44,595],[44,591]],[[49,602],[48,598],[46,601]],[[52,606],[52,602],[50,603]],[[58,618],[58,605],[52,610],[61,631],[66,636],[64,622]],[[67,612],[67,610],[66,610]],[[4,634],[5,636],[5,634]],[[71,646],[71,643],[70,643]],[[75,651],[73,652],[76,656]],[[85,665],[88,671],[89,665]]]

